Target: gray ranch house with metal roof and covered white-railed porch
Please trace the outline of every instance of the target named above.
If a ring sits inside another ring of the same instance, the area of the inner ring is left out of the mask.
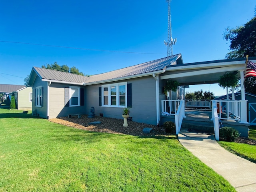
[[[33,67],[27,86],[33,90],[33,114],[42,118],[89,114],[91,107],[97,116],[122,118],[122,108],[130,107],[135,122],[162,125],[173,117],[178,133],[185,118],[185,86],[217,83],[225,72],[239,71],[242,79],[244,68],[245,58],[184,64],[181,54],[176,54],[89,77]],[[163,88],[168,80],[176,80],[180,86],[166,96]],[[247,130],[247,116],[242,112],[247,110],[244,86],[241,94],[235,121]],[[212,103],[216,140],[217,103]]]

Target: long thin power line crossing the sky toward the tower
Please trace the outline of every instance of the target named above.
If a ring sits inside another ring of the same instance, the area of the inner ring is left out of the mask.
[[[27,45],[40,45],[40,46],[59,47],[59,48],[68,48],[68,49],[81,49],[81,50],[90,50],[90,51],[104,51],[104,52],[118,52],[118,53],[132,53],[132,54],[161,54],[161,55],[165,55],[165,53],[142,53],[142,52],[112,51],[112,50],[88,49],[88,48],[58,46],[58,45],[46,45],[46,44],[36,44],[36,43],[14,42],[14,41],[0,41],[0,42],[16,43],[16,44],[27,44]]]

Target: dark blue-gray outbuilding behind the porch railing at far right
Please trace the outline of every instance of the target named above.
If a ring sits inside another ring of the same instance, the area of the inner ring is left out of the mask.
[[[232,94],[228,94],[229,100],[232,100]],[[242,95],[241,92],[234,93],[235,100],[241,100]],[[221,96],[216,98],[215,100],[226,100],[227,95]],[[250,123],[250,125],[256,125],[256,95],[251,93],[245,93],[245,100],[247,100],[247,120]],[[222,106],[223,109],[226,108],[226,105],[224,104]]]

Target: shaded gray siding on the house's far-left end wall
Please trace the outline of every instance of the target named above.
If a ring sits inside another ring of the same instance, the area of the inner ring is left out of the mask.
[[[42,95],[42,101],[43,101],[43,106],[42,107],[37,107],[35,106],[35,89],[38,86],[42,86],[44,91]],[[46,81],[41,81],[41,79],[36,76],[36,79],[33,84],[33,102],[32,102],[32,111],[36,110],[36,113],[38,116],[47,119],[47,82]]]

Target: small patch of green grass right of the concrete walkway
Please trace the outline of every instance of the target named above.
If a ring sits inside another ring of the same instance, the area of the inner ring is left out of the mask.
[[[256,127],[250,126],[249,137],[250,139],[256,140]],[[235,143],[235,142],[225,142],[219,141],[220,146],[225,148],[226,150],[245,158],[251,162],[256,163],[256,146],[243,144],[243,143]]]

